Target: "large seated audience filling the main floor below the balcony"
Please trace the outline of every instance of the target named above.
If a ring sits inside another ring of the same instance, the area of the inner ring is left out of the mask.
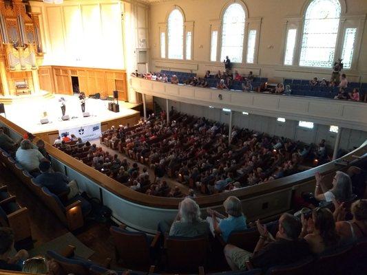
[[[235,190],[297,173],[300,142],[233,127],[231,144],[224,124],[171,111],[137,126],[110,129],[107,146],[149,164],[203,193]],[[116,146],[114,145],[116,144]],[[136,175],[137,176],[137,175]]]

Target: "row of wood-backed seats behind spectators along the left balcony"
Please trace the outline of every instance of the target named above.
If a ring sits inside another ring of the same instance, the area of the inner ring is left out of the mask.
[[[48,188],[36,184],[32,175],[15,161],[6,151],[0,151],[0,161],[7,166],[41,201],[45,203],[61,222],[69,228],[76,230],[84,225],[84,218],[92,210],[90,203],[80,195],[72,199],[57,197]]]

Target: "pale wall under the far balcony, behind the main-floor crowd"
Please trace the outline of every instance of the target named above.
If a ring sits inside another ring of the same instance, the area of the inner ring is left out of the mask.
[[[154,97],[154,100],[162,109],[166,109],[166,100],[164,98]],[[209,107],[172,100],[170,101],[170,106],[173,106],[177,111],[182,113],[188,113],[198,117],[204,116],[209,120],[222,123],[229,122],[229,113],[221,109],[211,109]],[[243,115],[240,112],[233,113],[233,125],[268,133],[269,135],[289,137],[292,140],[300,140],[306,143],[317,143],[325,139],[329,148],[333,148],[337,137],[336,133],[329,132],[330,125],[314,124],[313,129],[305,129],[298,126],[298,121],[295,120],[286,120],[286,122],[281,123],[277,122],[276,118],[251,113],[249,115]],[[367,140],[366,131],[343,129],[340,148],[350,150],[353,147],[360,146],[365,140]]]

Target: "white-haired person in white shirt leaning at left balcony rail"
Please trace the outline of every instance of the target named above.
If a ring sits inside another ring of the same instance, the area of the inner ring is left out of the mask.
[[[17,162],[23,166],[33,177],[40,174],[39,164],[41,162],[49,162],[38,150],[32,148],[30,140],[23,140],[21,146],[18,148]]]

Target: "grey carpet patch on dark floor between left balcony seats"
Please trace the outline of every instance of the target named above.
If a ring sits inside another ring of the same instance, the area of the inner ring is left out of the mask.
[[[89,259],[90,256],[94,254],[94,251],[87,246],[83,245],[81,241],[76,239],[72,233],[68,232],[63,234],[63,236],[59,236],[59,238],[53,239],[48,243],[44,243],[37,248],[30,250],[30,256],[37,256],[37,255],[45,255],[48,250],[54,250],[56,252],[62,252],[67,245],[73,245],[75,250],[75,255],[79,256],[84,259]]]

